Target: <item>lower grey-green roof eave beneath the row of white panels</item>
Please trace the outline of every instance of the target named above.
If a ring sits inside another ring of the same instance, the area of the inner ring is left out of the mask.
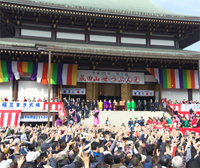
[[[58,41],[30,40],[18,38],[1,38],[2,49],[26,49],[33,50],[39,46],[52,52],[67,52],[78,54],[96,54],[107,56],[165,58],[165,59],[189,59],[199,60],[200,52],[181,49],[160,49],[147,47],[109,46],[84,43],[68,43]]]

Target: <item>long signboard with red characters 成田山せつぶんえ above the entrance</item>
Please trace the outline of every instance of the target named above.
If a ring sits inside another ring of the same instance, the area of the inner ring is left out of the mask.
[[[144,73],[78,70],[77,82],[144,84]]]

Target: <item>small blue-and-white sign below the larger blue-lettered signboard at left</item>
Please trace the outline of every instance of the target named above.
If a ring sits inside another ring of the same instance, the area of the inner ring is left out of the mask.
[[[52,121],[52,116],[49,119]],[[21,116],[20,122],[48,122],[48,116]]]

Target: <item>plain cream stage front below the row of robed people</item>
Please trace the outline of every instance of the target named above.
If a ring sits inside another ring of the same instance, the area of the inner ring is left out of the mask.
[[[122,123],[125,123],[127,126],[130,118],[137,117],[140,119],[141,116],[145,120],[148,120],[148,117],[162,117],[164,114],[163,111],[101,111],[99,114],[100,125],[104,125],[106,118],[108,117],[111,121],[111,125],[120,126]],[[165,113],[167,117],[170,117],[168,113]],[[93,124],[93,116],[90,113],[90,117],[85,119],[86,125]]]

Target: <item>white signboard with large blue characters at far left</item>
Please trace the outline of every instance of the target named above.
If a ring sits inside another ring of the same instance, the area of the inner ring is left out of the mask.
[[[0,102],[2,110],[43,110],[44,102]]]

